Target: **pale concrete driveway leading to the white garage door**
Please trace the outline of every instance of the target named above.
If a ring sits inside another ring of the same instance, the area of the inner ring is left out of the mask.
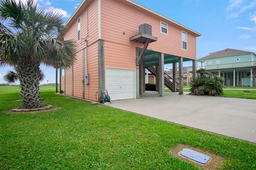
[[[148,91],[109,106],[256,143],[256,100]]]

